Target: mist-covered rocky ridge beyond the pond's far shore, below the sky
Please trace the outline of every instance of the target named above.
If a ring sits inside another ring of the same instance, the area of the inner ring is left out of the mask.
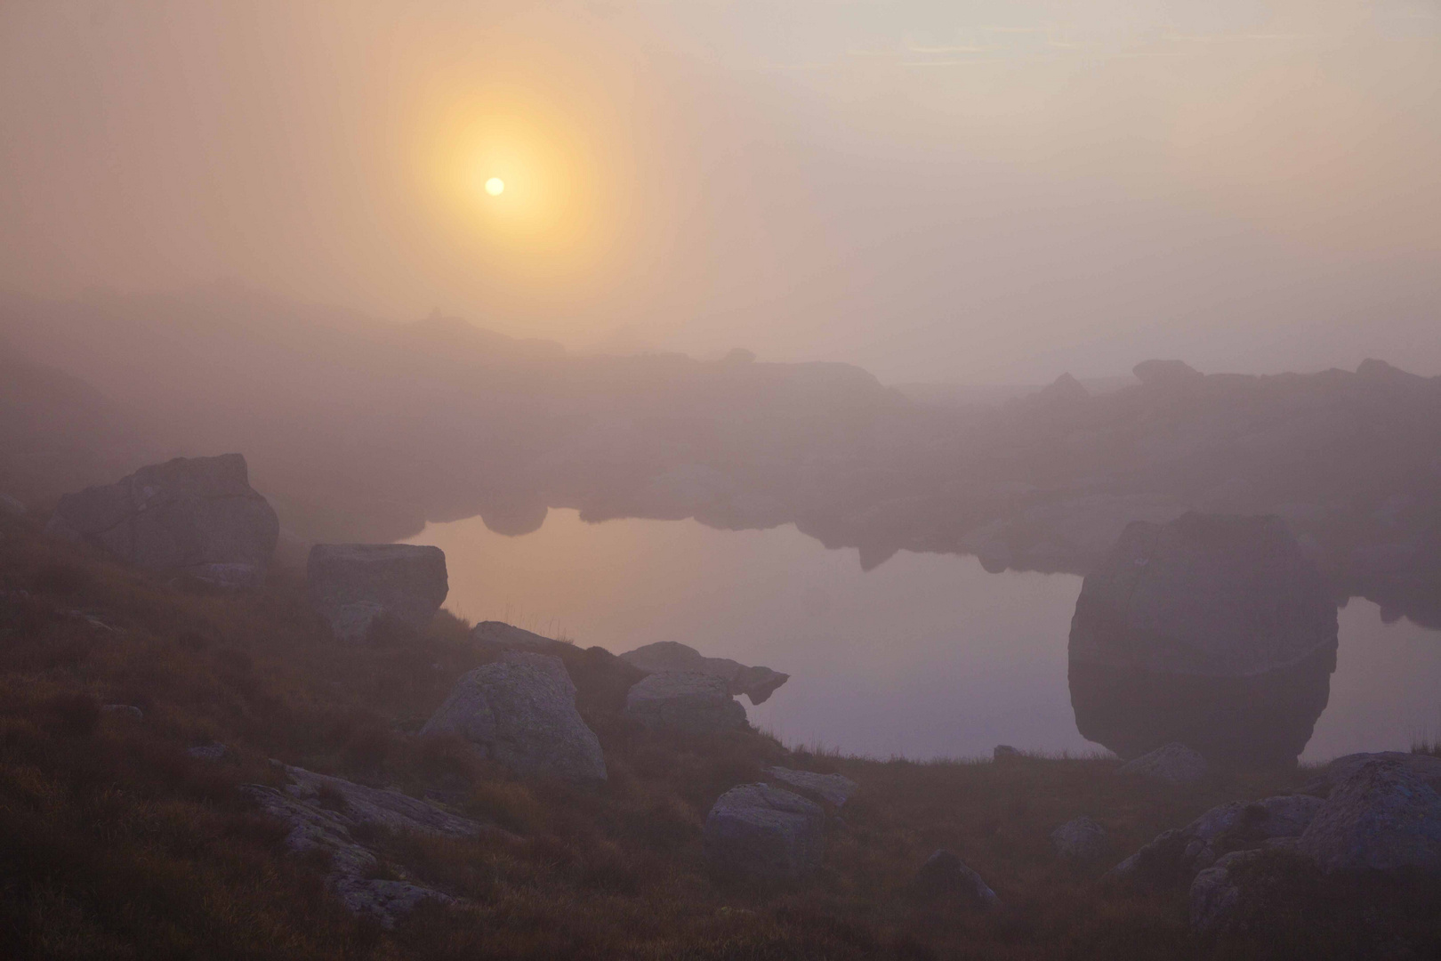
[[[919,403],[859,367],[745,350],[581,356],[434,314],[388,324],[209,287],[0,301],[0,491],[53,500],[164,454],[244,451],[282,543],[393,540],[480,514],[794,522],[898,550],[1085,573],[1130,522],[1275,514],[1336,599],[1441,627],[1441,377],[1071,376]],[[23,373],[23,376],[20,376]]]

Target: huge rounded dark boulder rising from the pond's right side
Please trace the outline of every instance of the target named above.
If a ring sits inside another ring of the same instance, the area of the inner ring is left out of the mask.
[[[1278,517],[1133,523],[1076,599],[1076,726],[1123,758],[1180,741],[1216,764],[1295,764],[1336,637],[1326,581]]]

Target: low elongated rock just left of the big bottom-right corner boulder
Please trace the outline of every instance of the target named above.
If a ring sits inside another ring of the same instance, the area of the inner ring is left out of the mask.
[[[1320,808],[1321,800],[1307,794],[1221,804],[1186,827],[1161,831],[1117,864],[1111,875],[1151,883],[1186,882],[1231,852],[1294,841]]]

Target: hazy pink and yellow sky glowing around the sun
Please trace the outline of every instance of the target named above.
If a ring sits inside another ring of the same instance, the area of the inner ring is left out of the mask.
[[[1441,0],[0,0],[22,292],[888,380],[1441,373],[1438,170]]]

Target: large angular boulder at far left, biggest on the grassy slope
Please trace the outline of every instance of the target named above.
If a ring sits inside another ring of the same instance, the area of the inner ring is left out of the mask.
[[[251,487],[245,458],[222,454],[179,457],[65,494],[46,530],[140,568],[256,586],[275,553],[280,519]]]

